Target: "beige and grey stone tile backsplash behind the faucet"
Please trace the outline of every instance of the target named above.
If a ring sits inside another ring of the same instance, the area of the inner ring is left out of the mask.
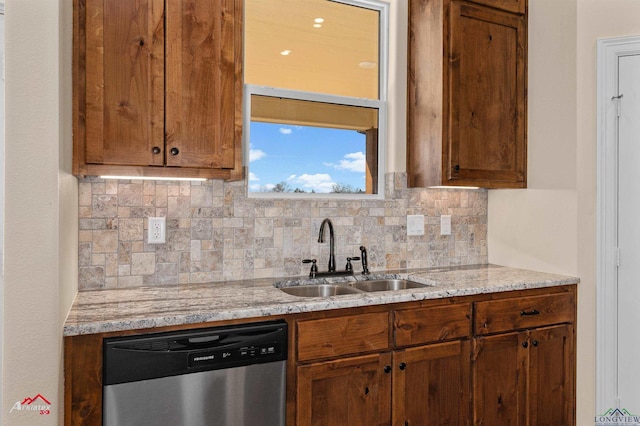
[[[337,269],[367,247],[369,269],[487,263],[487,191],[407,188],[386,176],[383,200],[247,198],[246,182],[79,181],[79,289],[307,275],[327,269],[318,243],[324,218],[335,231]],[[407,237],[407,215],[425,235]],[[440,235],[440,215],[452,232]],[[147,244],[147,218],[167,218],[165,244]],[[328,241],[328,239],[326,240]],[[360,262],[354,262],[356,273]]]

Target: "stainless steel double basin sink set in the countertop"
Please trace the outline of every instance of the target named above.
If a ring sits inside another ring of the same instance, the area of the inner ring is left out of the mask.
[[[405,279],[378,279],[345,282],[340,284],[311,284],[280,287],[280,290],[292,296],[299,297],[331,297],[344,294],[361,294],[375,291],[395,291],[422,287],[428,287],[428,284],[421,284]]]

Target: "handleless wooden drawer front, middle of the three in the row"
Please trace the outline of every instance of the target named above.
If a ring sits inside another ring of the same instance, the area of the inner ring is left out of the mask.
[[[401,309],[394,312],[395,344],[407,346],[471,335],[471,304]]]

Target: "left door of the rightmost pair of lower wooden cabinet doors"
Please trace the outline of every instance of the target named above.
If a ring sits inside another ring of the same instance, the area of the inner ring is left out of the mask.
[[[525,425],[528,334],[525,331],[475,339],[472,358],[475,425]]]

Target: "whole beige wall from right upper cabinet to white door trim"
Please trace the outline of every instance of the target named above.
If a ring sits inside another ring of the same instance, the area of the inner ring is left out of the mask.
[[[490,191],[489,261],[580,277],[577,424],[595,413],[596,39],[637,0],[530,0],[529,189]]]

